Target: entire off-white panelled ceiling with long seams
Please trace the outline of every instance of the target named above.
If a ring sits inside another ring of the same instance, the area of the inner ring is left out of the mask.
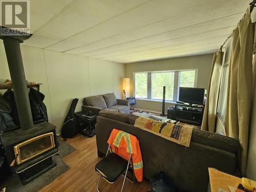
[[[250,0],[33,0],[25,45],[119,62],[217,50]]]

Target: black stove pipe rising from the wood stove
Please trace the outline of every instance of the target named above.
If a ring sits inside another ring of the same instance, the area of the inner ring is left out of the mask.
[[[0,36],[4,41],[14,97],[22,130],[28,130],[33,126],[28,88],[22,62],[22,54],[19,46],[20,43],[24,42],[24,40],[28,39],[30,36],[31,34],[26,36]]]

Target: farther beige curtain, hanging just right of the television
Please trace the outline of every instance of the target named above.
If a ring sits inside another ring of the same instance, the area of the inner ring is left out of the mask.
[[[214,54],[214,59],[212,59],[211,73],[207,90],[207,100],[201,126],[201,129],[204,131],[215,132],[217,102],[222,69],[222,55],[223,54],[220,50]]]

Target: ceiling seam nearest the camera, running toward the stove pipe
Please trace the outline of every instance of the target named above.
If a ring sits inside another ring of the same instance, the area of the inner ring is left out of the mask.
[[[78,1],[78,0],[77,0],[77,1]],[[62,39],[62,40],[58,41],[58,42],[55,42],[54,44],[45,47],[45,49],[48,48],[48,47],[51,47],[51,46],[53,46],[53,45],[55,45],[55,44],[58,44],[59,42],[62,42],[62,41],[64,41],[64,40],[67,40],[67,39],[69,39],[69,38],[71,38],[71,37],[73,37],[73,36],[76,36],[76,35],[78,35],[78,34],[80,34],[80,33],[83,33],[84,31],[88,31],[89,29],[92,29],[92,28],[94,28],[94,27],[97,27],[97,26],[99,26],[99,25],[101,25],[101,24],[103,24],[103,23],[105,23],[105,22],[108,22],[109,20],[112,20],[112,19],[114,19],[114,18],[116,18],[116,17],[118,17],[118,16],[120,16],[120,15],[122,15],[122,14],[125,14],[125,13],[127,13],[127,12],[129,12],[129,11],[132,11],[132,10],[134,10],[134,9],[136,9],[136,8],[138,8],[138,7],[141,7],[141,6],[143,6],[143,5],[147,4],[147,3],[150,3],[150,2],[152,2],[152,1],[154,1],[154,0],[147,0],[147,1],[145,1],[145,2],[143,2],[143,3],[141,3],[141,4],[137,5],[137,6],[135,6],[135,7],[133,7],[133,8],[130,8],[130,9],[128,9],[128,10],[122,12],[122,13],[118,13],[117,15],[115,15],[115,16],[113,16],[113,17],[110,17],[110,18],[108,18],[108,19],[103,20],[103,22],[100,22],[100,23],[98,23],[98,24],[96,24],[96,25],[94,25],[94,26],[92,26],[92,27],[89,27],[89,28],[87,28],[87,29],[84,29],[84,30],[82,30],[82,31],[80,31],[80,32],[78,32],[78,33],[75,33],[75,34],[73,34],[73,35],[71,35],[71,36],[69,36],[69,37],[67,37],[67,38],[65,38],[65,39]]]

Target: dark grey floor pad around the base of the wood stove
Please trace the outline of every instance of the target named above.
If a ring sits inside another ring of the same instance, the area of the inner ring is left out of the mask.
[[[6,187],[6,192],[36,192],[53,182],[54,179],[61,174],[65,173],[69,169],[69,166],[62,161],[62,158],[74,152],[76,149],[62,139],[58,138],[58,142],[60,144],[58,147],[59,155],[55,155],[52,158],[57,164],[55,167],[26,185],[23,185],[22,182],[20,182],[17,175],[9,176],[7,180],[0,184],[0,189]]]

